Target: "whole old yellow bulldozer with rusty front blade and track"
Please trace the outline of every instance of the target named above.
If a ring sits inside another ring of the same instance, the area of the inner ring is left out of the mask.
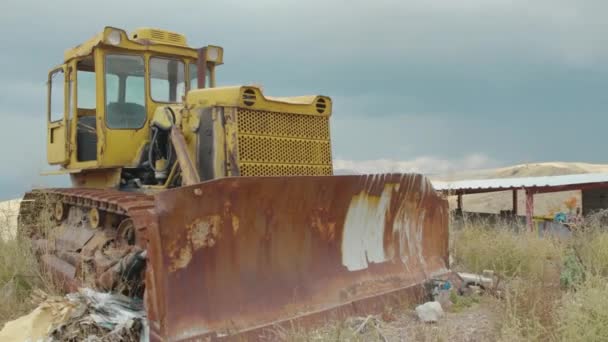
[[[154,341],[255,339],[447,272],[428,179],[334,176],[331,99],[217,87],[223,57],[106,27],[49,72],[47,159],[73,186],[28,192],[19,229],[67,290],[143,299]]]

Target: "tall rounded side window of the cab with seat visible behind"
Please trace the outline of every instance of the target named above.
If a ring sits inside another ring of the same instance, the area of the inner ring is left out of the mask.
[[[139,129],[146,122],[144,58],[107,55],[105,58],[106,125],[113,129]]]

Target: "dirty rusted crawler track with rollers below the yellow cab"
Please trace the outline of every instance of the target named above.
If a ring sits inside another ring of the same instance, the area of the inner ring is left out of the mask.
[[[41,261],[63,281],[66,290],[83,284],[114,290],[121,285],[125,268],[146,249],[147,226],[155,219],[153,208],[153,196],[144,193],[34,190],[23,198],[19,234],[32,238]],[[90,217],[93,210],[98,216],[95,223]],[[126,234],[121,229],[129,230],[131,237],[121,236]],[[145,263],[145,254],[141,260]],[[137,277],[137,284],[131,287],[141,292],[143,277]]]

